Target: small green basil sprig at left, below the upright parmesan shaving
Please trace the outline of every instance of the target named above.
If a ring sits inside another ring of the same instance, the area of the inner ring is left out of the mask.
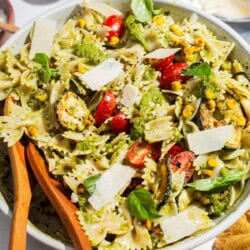
[[[58,75],[58,71],[56,69],[50,68],[50,59],[46,54],[36,53],[34,61],[41,66],[39,74],[43,82],[48,83],[52,77],[56,77]]]

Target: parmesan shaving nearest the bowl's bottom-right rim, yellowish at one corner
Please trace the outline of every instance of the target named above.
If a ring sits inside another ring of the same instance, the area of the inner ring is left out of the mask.
[[[160,223],[166,242],[176,242],[193,233],[213,226],[206,211],[197,206],[189,206],[185,211],[163,219]]]

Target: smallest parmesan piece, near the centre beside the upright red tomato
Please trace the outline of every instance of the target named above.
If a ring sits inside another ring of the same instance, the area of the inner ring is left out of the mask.
[[[132,84],[127,84],[122,92],[121,104],[131,107],[141,100],[141,92]]]

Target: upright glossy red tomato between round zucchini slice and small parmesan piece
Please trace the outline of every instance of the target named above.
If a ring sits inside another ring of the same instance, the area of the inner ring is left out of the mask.
[[[95,112],[95,124],[101,125],[106,119],[111,117],[115,112],[116,98],[112,91],[107,91],[100,101]]]

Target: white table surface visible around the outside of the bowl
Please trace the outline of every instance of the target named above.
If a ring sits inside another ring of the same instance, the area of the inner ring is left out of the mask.
[[[63,2],[69,0],[11,0],[11,3],[15,11],[16,25],[22,27],[28,21],[36,17],[37,15],[46,12],[46,10],[53,8]],[[250,43],[250,28],[244,25],[234,25],[243,37]],[[6,217],[0,212],[0,249],[8,249],[9,241],[9,230],[10,230],[10,218]],[[208,241],[206,244],[199,246],[193,250],[211,250],[214,240]],[[40,242],[36,241],[32,237],[28,236],[27,243],[28,250],[48,250],[51,249]]]

